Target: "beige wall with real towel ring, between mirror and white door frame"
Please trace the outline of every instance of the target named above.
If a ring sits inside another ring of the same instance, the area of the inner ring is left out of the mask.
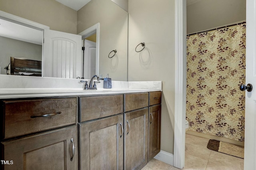
[[[173,153],[175,1],[129,0],[128,81],[162,81],[161,150]],[[135,47],[145,42],[140,53]]]

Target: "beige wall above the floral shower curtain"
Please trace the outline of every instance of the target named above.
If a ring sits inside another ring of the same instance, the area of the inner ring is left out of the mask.
[[[187,6],[188,34],[242,20],[246,20],[246,0],[201,0]]]

